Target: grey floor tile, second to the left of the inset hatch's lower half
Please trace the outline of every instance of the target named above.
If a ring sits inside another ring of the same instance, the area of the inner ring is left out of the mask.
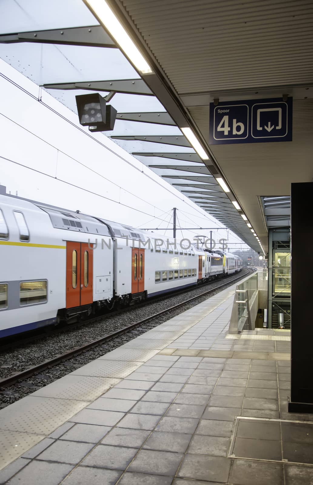
[[[192,435],[185,433],[153,431],[143,445],[143,448],[147,450],[185,453],[191,437]]]

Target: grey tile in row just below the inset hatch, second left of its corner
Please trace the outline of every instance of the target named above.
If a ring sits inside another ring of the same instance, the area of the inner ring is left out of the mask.
[[[172,477],[175,475],[183,456],[183,453],[141,450],[128,470]]]

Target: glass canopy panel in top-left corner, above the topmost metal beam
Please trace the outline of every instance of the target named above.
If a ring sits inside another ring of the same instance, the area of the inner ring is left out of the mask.
[[[81,0],[1,0],[0,33],[99,25]]]

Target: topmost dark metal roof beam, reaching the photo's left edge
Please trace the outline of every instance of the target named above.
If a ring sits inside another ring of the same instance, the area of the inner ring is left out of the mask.
[[[101,25],[0,35],[0,43],[2,44],[17,42],[116,48],[116,45]]]

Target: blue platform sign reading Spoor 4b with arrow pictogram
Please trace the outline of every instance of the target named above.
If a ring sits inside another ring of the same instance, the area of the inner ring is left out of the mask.
[[[210,145],[291,141],[292,97],[210,103]]]

